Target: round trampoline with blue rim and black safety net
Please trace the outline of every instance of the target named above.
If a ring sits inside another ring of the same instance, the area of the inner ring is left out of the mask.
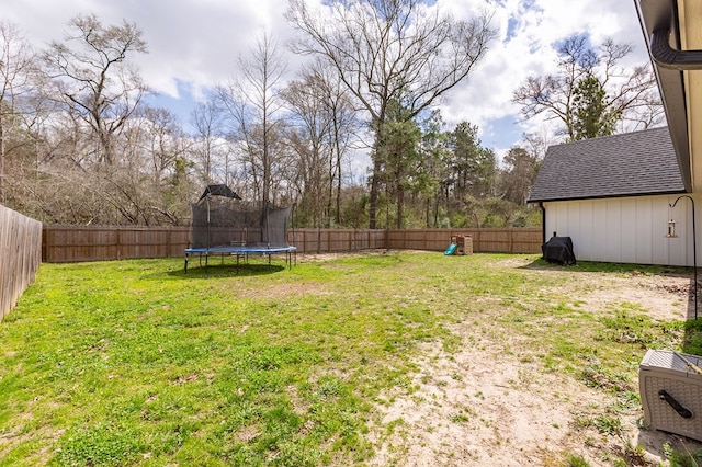
[[[197,255],[205,269],[210,257],[219,255],[240,261],[250,255],[268,257],[271,264],[273,254],[284,254],[287,267],[296,260],[297,248],[288,244],[287,223],[293,206],[275,207],[270,203],[252,204],[241,198],[226,185],[210,185],[197,203],[191,204],[192,240],[185,249],[184,271],[191,257]],[[293,242],[294,242],[293,230]],[[204,259],[204,261],[203,261]]]

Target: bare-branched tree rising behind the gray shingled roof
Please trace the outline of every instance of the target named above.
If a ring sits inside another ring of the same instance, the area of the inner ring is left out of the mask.
[[[609,38],[595,49],[589,36],[570,36],[557,46],[558,71],[529,77],[513,92],[512,101],[521,105],[525,119],[544,114],[547,119],[559,121],[559,132],[575,140],[578,123],[588,118],[577,114],[578,90],[584,83],[596,81],[597,88],[605,93],[601,98],[602,113],[619,116],[620,130],[660,124],[663,105],[652,67],[643,65],[627,70],[619,65],[632,50],[630,44],[615,44]]]

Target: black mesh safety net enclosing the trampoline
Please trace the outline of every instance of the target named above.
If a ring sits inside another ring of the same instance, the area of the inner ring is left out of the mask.
[[[191,204],[192,248],[287,247],[292,206],[274,207],[207,197]]]

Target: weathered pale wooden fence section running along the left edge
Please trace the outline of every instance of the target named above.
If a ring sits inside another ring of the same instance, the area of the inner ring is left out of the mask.
[[[34,282],[42,262],[42,223],[0,205],[0,321]]]

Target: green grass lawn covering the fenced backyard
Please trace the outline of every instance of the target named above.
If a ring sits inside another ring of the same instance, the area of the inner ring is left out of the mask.
[[[378,405],[417,389],[426,344],[466,345],[456,327],[518,335],[544,372],[633,403],[645,349],[702,353],[694,322],[568,295],[577,274],[686,270],[429,252],[182,267],[42,265],[0,323],[0,465],[362,465]]]

